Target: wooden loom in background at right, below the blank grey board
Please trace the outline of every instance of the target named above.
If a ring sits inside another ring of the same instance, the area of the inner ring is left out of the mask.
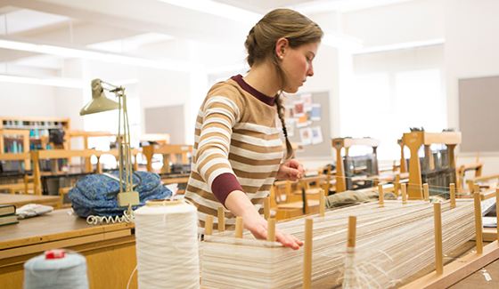
[[[421,199],[423,183],[429,184],[430,195],[442,195],[443,188],[455,183],[454,149],[461,143],[461,132],[413,131],[404,133],[402,142],[411,150],[407,189],[410,199]],[[434,144],[441,144],[441,148],[432,150]]]

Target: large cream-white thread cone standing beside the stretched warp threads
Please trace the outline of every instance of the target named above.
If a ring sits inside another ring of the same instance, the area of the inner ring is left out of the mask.
[[[135,211],[139,288],[199,288],[197,213],[184,201],[147,201]]]

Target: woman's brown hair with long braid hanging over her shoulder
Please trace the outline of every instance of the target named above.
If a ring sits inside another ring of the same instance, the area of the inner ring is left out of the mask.
[[[286,132],[281,95],[284,87],[289,83],[289,79],[282,68],[277,53],[275,53],[275,44],[277,40],[286,38],[291,48],[298,48],[302,44],[320,42],[322,37],[323,30],[306,16],[290,9],[276,9],[266,13],[264,18],[249,30],[249,35],[244,43],[248,51],[247,60],[250,68],[262,61],[271,60],[281,79],[281,92],[278,93],[275,103],[277,115],[282,123],[282,132],[286,139],[286,159],[293,156],[293,149]]]

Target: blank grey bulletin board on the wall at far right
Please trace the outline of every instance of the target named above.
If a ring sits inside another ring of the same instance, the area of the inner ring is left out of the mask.
[[[499,152],[499,76],[459,80],[461,152]]]

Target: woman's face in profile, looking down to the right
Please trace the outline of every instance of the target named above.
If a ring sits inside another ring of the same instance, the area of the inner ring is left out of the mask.
[[[319,44],[320,42],[303,44],[297,48],[287,49],[283,53],[282,68],[286,71],[289,80],[284,92],[298,92],[299,87],[307,81],[307,76],[314,75],[312,61],[317,54]]]

